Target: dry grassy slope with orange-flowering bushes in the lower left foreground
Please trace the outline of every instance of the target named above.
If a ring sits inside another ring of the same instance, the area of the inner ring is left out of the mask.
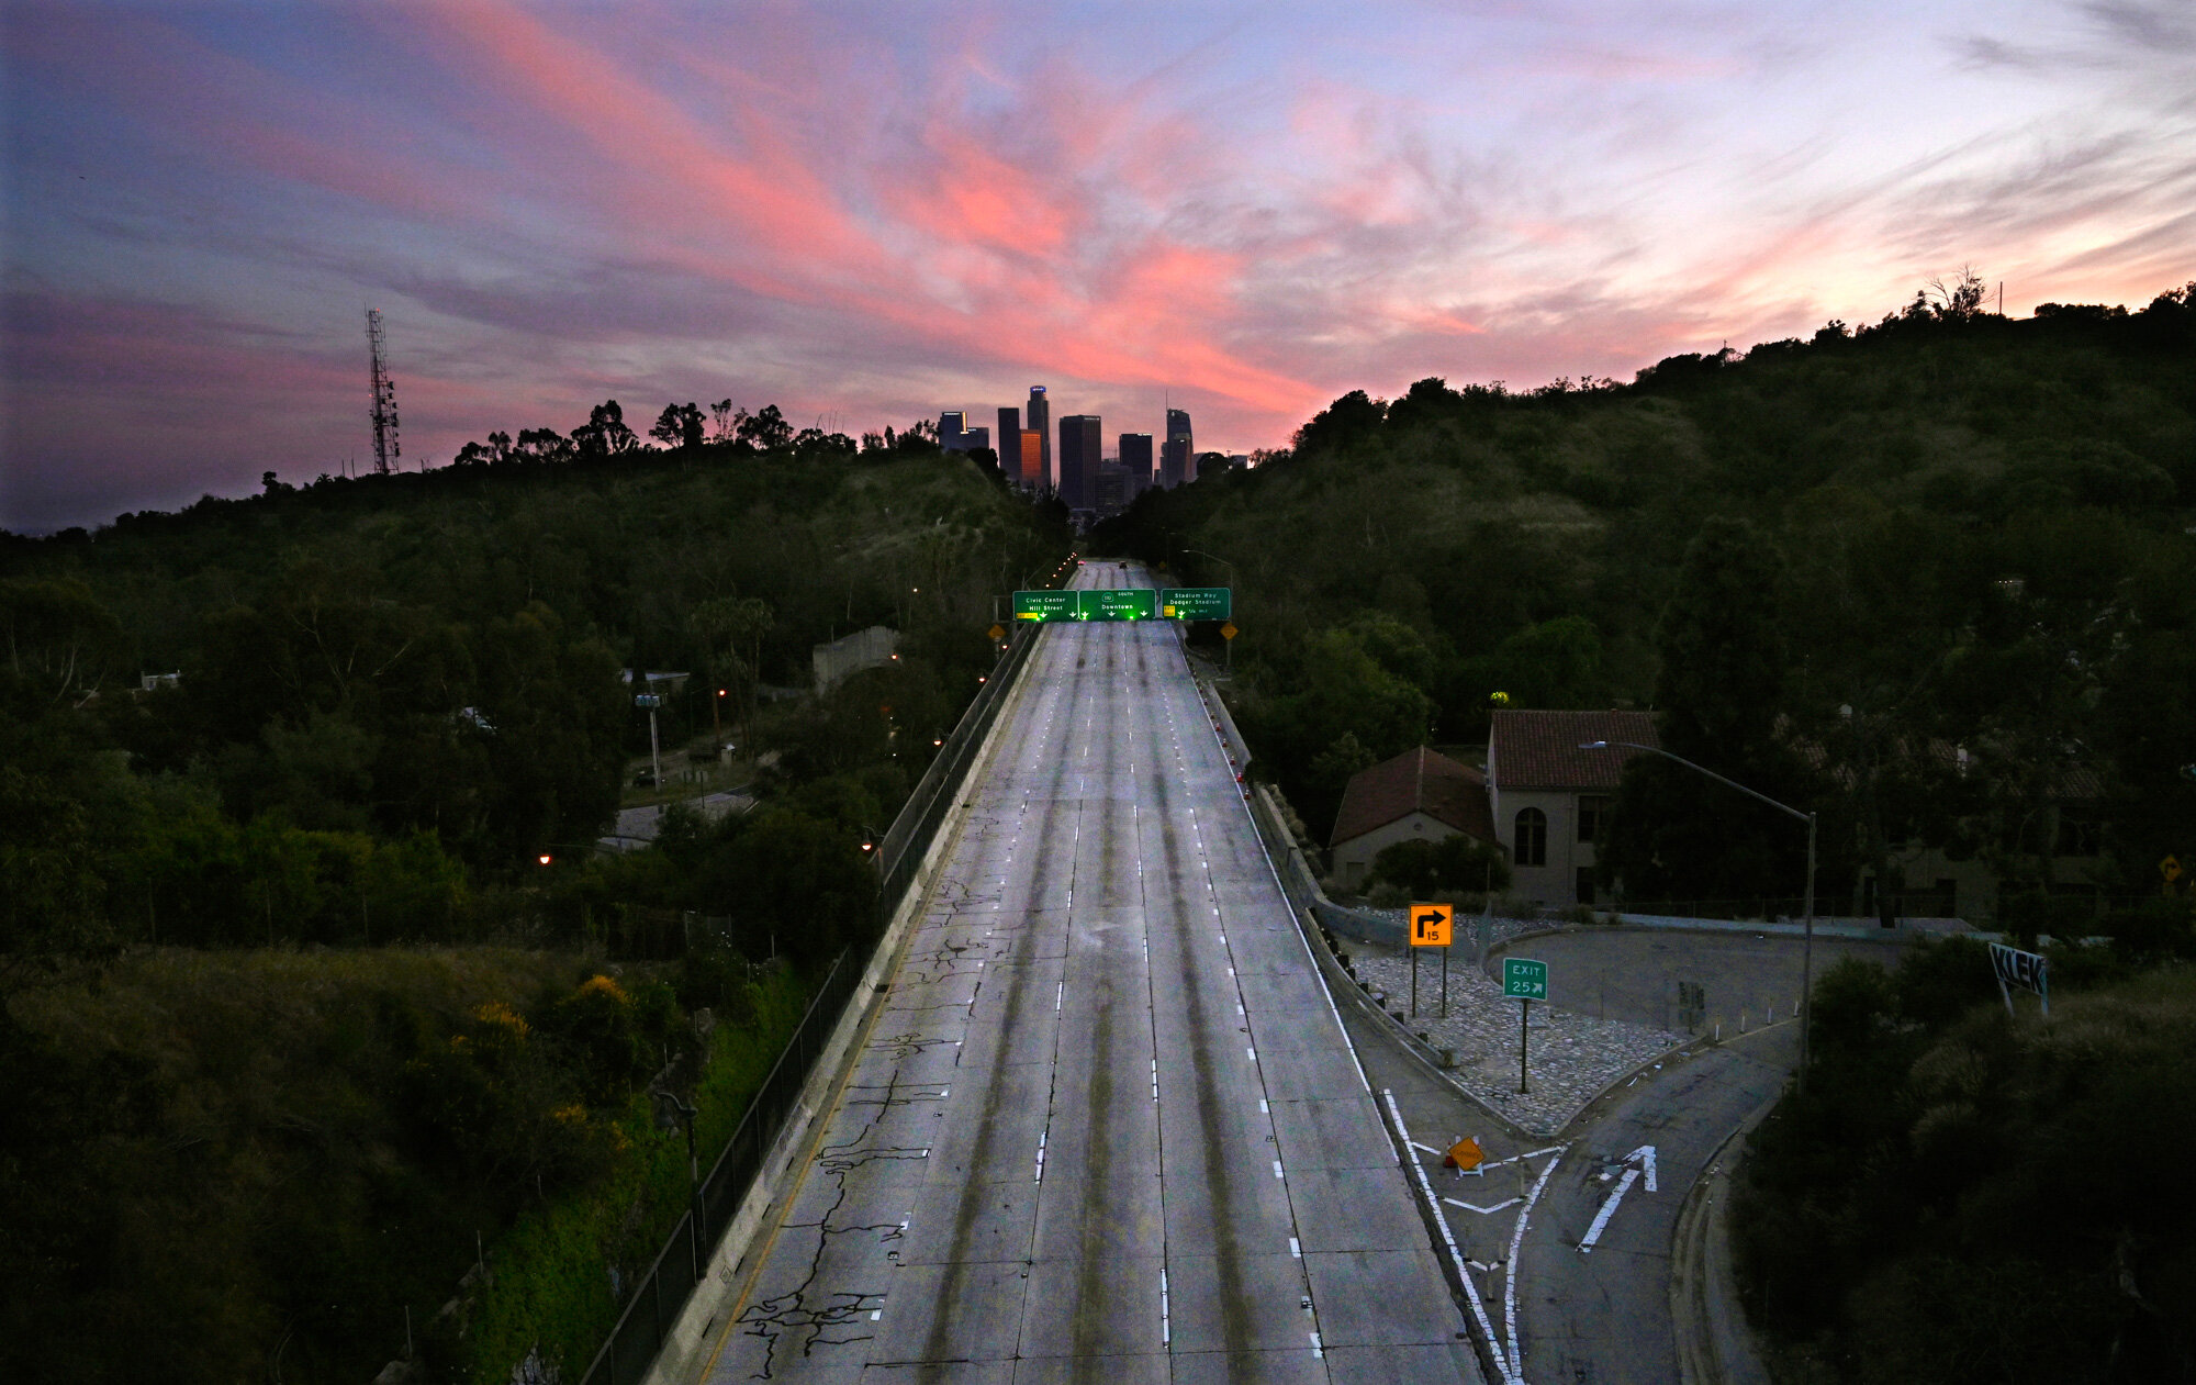
[[[0,1376],[356,1385],[404,1354],[406,1312],[437,1381],[501,1385],[536,1343],[584,1370],[685,1205],[685,1141],[639,1088],[681,1057],[722,1143],[804,1002],[786,972],[698,980],[505,948],[143,948],[18,996]],[[707,1040],[681,1000],[714,1005]]]

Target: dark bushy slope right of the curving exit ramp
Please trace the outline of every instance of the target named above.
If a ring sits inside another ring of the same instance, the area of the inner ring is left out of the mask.
[[[2066,963],[2049,1020],[1976,943],[1823,976],[1810,1088],[1733,1205],[1783,1378],[2196,1378],[2196,972]]]

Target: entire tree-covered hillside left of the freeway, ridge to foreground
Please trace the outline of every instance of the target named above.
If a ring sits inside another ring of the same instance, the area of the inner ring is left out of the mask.
[[[0,1376],[356,1385],[408,1312],[426,1378],[578,1378],[687,1198],[646,1086],[707,1163],[872,934],[1065,514],[920,433],[610,422],[0,536]],[[703,787],[632,794],[621,668],[751,811],[595,851]]]

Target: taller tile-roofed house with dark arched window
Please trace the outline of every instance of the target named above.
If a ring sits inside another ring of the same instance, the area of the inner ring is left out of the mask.
[[[1610,750],[1579,750],[1610,741]],[[1487,728],[1487,798],[1526,899],[1594,901],[1594,838],[1638,750],[1660,745],[1649,712],[1500,710]]]

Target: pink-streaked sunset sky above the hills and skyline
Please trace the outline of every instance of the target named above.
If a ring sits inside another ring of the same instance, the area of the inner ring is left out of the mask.
[[[0,525],[621,400],[1280,446],[1421,376],[1618,380],[2196,279],[2196,7],[18,4]]]

